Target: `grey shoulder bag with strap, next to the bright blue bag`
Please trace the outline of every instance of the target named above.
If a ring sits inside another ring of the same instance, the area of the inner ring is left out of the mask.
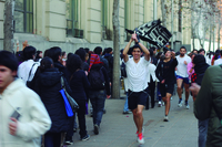
[[[77,104],[74,98],[72,98],[72,96],[70,96],[69,93],[67,92],[63,76],[61,76],[61,85],[62,85],[62,90],[64,91],[64,95],[67,96],[67,99],[69,101],[69,104],[72,108],[72,112],[77,112],[79,109],[79,105]]]

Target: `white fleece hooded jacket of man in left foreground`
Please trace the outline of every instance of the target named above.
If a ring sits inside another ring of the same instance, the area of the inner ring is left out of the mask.
[[[13,81],[0,95],[0,147],[38,147],[39,138],[50,129],[51,120],[40,97],[22,80]],[[9,134],[10,116],[21,116],[14,136]]]

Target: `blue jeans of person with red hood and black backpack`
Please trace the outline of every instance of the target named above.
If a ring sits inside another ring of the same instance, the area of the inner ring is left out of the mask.
[[[89,91],[89,98],[93,108],[93,124],[100,126],[104,109],[105,93],[104,91]]]

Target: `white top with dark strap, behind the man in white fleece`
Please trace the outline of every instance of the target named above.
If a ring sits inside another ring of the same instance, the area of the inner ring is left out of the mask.
[[[36,65],[33,66],[33,69],[31,71],[31,75],[29,77],[30,70],[34,63],[36,63]],[[27,83],[27,81],[31,81],[34,76],[34,73],[36,73],[39,64],[40,64],[39,62],[34,62],[33,60],[28,60],[28,61],[22,62],[18,69],[18,77],[22,78],[24,81],[24,83]]]

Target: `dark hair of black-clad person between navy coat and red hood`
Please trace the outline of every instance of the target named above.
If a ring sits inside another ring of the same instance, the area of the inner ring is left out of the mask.
[[[77,54],[71,54],[67,61],[67,70],[74,73],[78,69],[81,69],[82,60]]]

